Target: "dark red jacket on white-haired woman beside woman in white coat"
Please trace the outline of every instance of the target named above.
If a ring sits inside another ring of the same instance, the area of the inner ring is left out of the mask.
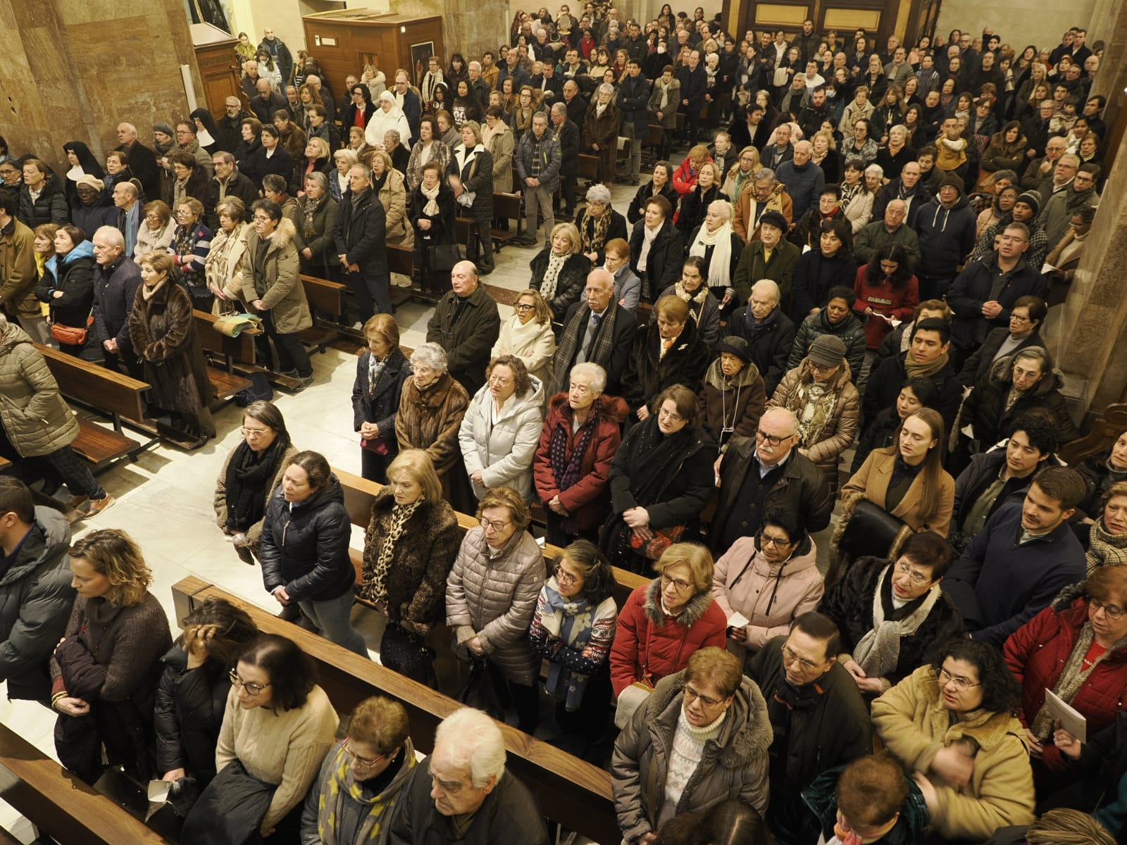
[[[548,419],[540,433],[540,447],[532,463],[536,496],[547,508],[556,496],[560,504],[575,515],[576,528],[589,531],[606,521],[611,508],[611,460],[622,442],[622,422],[630,412],[624,400],[603,395],[600,403],[598,428],[587,442],[587,451],[579,465],[579,480],[567,490],[560,490],[552,470],[552,434],[557,428],[567,433],[567,457],[571,457],[576,441],[583,436],[583,428],[571,429],[571,407],[567,393],[557,393],[548,401]]]

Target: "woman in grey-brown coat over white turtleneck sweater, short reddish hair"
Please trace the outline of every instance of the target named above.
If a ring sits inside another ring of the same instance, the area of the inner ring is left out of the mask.
[[[623,842],[650,843],[674,816],[738,798],[767,807],[767,705],[739,660],[702,648],[663,678],[614,742],[611,788]]]

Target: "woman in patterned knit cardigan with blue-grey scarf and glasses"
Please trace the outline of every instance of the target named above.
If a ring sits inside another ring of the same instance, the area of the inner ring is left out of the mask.
[[[533,653],[549,662],[544,690],[556,701],[560,729],[550,741],[579,757],[603,736],[611,712],[607,658],[619,615],[613,587],[597,546],[577,540],[556,560],[529,629]]]

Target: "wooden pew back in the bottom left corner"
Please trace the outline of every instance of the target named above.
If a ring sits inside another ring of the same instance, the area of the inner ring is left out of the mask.
[[[78,845],[171,845],[85,784],[16,731],[0,724],[0,799],[39,831]]]

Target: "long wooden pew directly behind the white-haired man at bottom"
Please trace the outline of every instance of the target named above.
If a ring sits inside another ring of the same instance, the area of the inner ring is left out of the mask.
[[[177,619],[184,619],[195,606],[212,597],[225,598],[243,608],[260,631],[282,634],[296,642],[317,664],[318,683],[337,710],[350,712],[361,701],[375,694],[402,702],[409,717],[411,741],[425,754],[434,749],[438,722],[461,706],[453,699],[195,577],[185,578],[172,587]],[[622,838],[614,817],[610,774],[516,728],[503,722],[498,722],[498,727],[505,739],[506,767],[532,791],[545,816],[595,842],[616,843]]]

